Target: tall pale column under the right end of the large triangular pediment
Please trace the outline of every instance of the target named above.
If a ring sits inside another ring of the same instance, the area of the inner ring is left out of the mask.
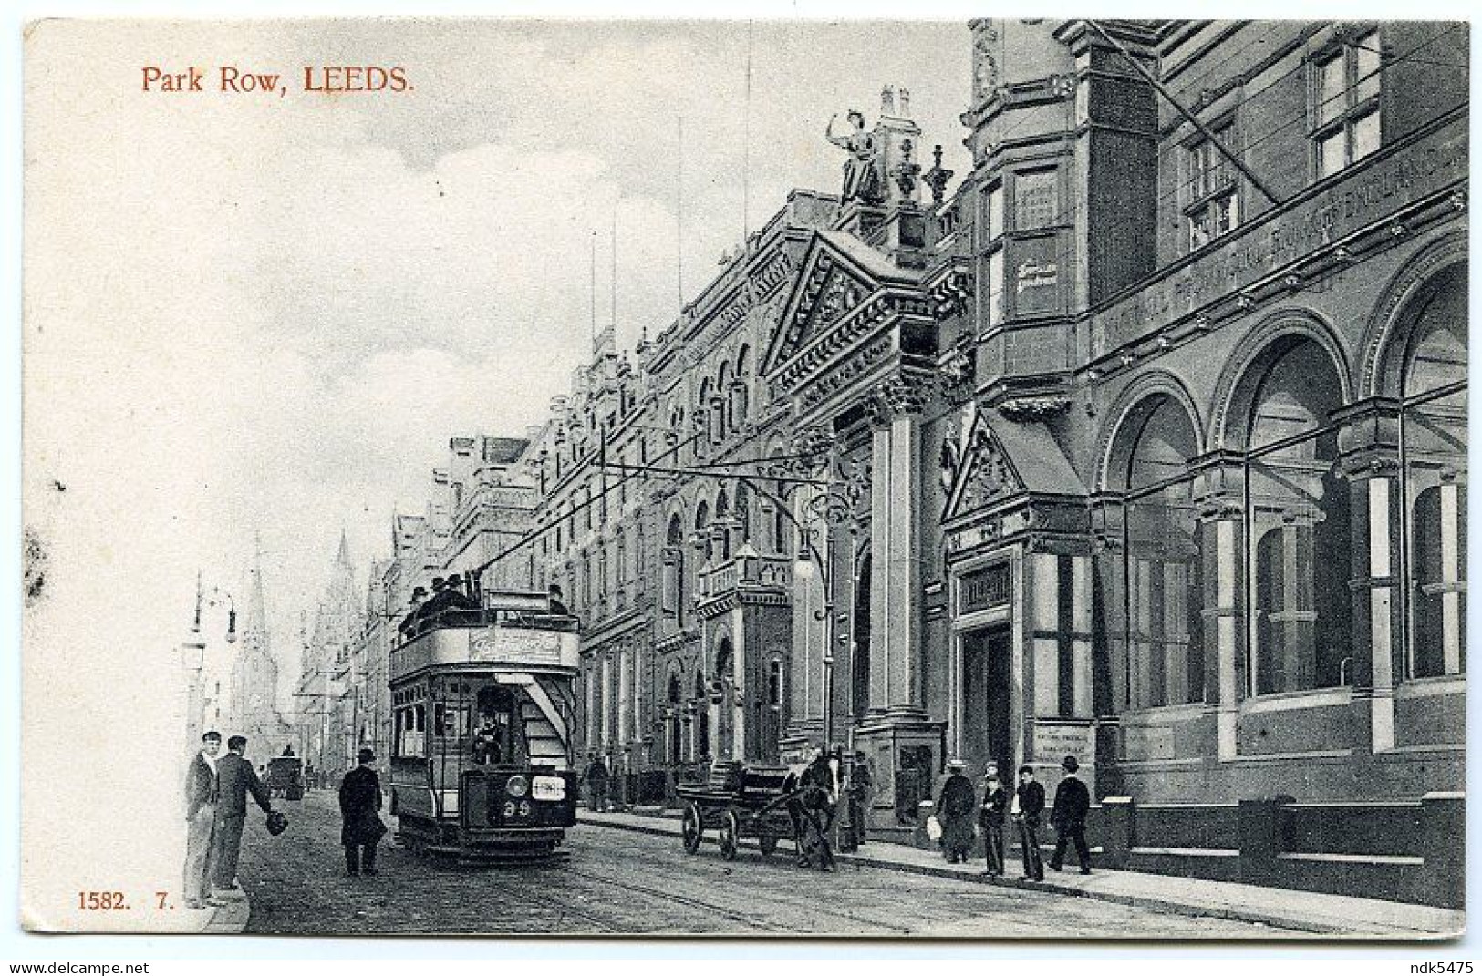
[[[892,378],[876,397],[870,459],[870,699],[873,706],[919,711],[920,384]]]

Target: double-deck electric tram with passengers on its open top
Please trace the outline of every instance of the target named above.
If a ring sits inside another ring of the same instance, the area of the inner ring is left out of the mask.
[[[535,592],[465,597],[402,624],[390,812],[413,855],[563,853],[556,847],[576,822],[576,619]]]

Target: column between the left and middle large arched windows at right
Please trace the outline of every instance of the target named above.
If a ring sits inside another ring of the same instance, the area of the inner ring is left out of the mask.
[[[1221,763],[1236,758],[1236,730],[1245,695],[1245,468],[1239,458],[1215,452],[1196,458],[1194,498],[1203,564],[1205,687],[1215,709]]]

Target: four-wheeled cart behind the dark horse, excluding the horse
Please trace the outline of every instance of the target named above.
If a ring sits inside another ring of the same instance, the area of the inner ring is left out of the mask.
[[[717,831],[720,856],[734,860],[742,837],[754,837],[763,855],[777,850],[781,838],[797,838],[787,801],[796,795],[797,773],[785,766],[716,763],[704,783],[680,783],[685,800],[682,838],[695,853],[707,828]]]

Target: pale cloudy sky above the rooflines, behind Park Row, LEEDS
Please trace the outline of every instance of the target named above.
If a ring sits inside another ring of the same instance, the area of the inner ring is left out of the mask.
[[[363,582],[451,435],[517,434],[566,390],[593,231],[609,317],[614,213],[627,348],[674,315],[680,253],[694,296],[791,187],[837,190],[828,117],[873,118],[883,84],[966,169],[960,21],[757,22],[750,101],[747,50],[744,22],[34,27],[27,521],[50,572],[27,625],[96,675],[76,705],[163,681],[197,569],[242,595],[255,532],[290,677],[341,529]],[[412,90],[299,90],[323,64]],[[206,90],[145,93],[147,65]],[[221,65],[293,87],[212,90]]]

